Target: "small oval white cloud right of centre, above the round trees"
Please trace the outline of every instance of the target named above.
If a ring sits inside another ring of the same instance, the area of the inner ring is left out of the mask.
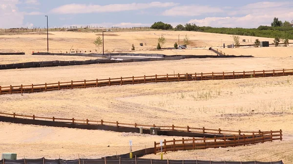
[[[189,5],[189,6],[176,6],[168,9],[162,13],[163,16],[200,16],[203,14],[210,13],[222,13],[224,12],[221,8],[200,6],[200,5]]]

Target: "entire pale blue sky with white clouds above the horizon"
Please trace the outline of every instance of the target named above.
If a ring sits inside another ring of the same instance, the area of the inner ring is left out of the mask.
[[[274,17],[293,20],[282,0],[0,0],[0,28],[150,26],[155,21],[212,27],[257,28]]]

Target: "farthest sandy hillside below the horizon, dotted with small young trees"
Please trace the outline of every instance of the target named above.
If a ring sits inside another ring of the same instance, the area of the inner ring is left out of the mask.
[[[49,49],[51,53],[69,52],[73,46],[73,51],[87,51],[95,52],[93,44],[94,40],[101,36],[101,33],[76,33],[76,32],[50,32]],[[193,47],[220,47],[222,43],[232,44],[233,39],[231,35],[211,34],[201,32],[174,32],[174,31],[145,31],[145,32],[118,32],[105,34],[105,51],[106,52],[126,52],[131,50],[132,44],[136,47],[136,51],[146,51],[155,49],[158,43],[158,38],[164,35],[167,39],[163,48],[173,48],[175,42],[178,42],[178,35],[180,35],[180,43],[188,35],[190,40],[189,48]],[[47,48],[46,35],[32,34],[32,35],[2,35],[0,36],[0,51],[25,52],[31,54],[35,52],[45,52]],[[241,42],[242,45],[252,44],[255,39],[260,41],[270,41],[272,38],[240,36],[240,40],[246,39],[250,42]],[[251,42],[252,41],[252,42]],[[290,40],[292,42],[293,40]],[[143,43],[144,46],[140,46]],[[100,52],[102,48],[100,47]],[[202,52],[193,52],[194,55],[202,55]],[[208,55],[210,54],[209,52]],[[175,55],[175,54],[173,54]]]

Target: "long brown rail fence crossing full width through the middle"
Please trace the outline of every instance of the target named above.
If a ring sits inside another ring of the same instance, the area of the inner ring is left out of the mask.
[[[251,71],[251,72],[230,72],[230,73],[186,73],[186,74],[166,74],[166,75],[152,75],[140,77],[120,77],[108,79],[95,79],[71,82],[45,83],[45,84],[31,84],[20,86],[0,86],[1,94],[13,93],[33,93],[42,91],[58,91],[75,88],[91,88],[104,87],[113,85],[127,85],[127,84],[144,84],[144,83],[158,83],[158,82],[172,82],[172,81],[195,81],[195,80],[222,80],[222,79],[239,79],[239,78],[253,78],[253,77],[273,77],[273,76],[288,76],[293,75],[291,70],[272,70],[272,71]]]

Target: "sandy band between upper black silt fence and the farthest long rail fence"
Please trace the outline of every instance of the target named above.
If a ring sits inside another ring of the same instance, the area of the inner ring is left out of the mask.
[[[0,86],[31,85],[66,81],[94,80],[132,76],[211,73],[231,71],[261,71],[292,68],[292,57],[287,58],[228,58],[228,59],[184,59],[154,62],[133,62],[115,64],[93,64],[84,66],[64,66],[2,70]]]

